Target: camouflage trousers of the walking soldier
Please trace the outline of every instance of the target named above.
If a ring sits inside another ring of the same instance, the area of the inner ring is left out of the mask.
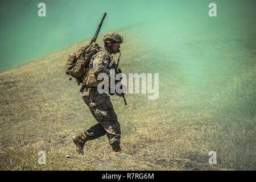
[[[98,122],[84,131],[86,137],[93,140],[107,134],[110,145],[119,145],[120,125],[108,94],[98,93],[97,88],[88,88],[83,90],[82,99],[89,106],[90,112]]]

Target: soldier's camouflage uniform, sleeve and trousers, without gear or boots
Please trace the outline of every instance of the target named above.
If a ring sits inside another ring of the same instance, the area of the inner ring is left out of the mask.
[[[96,76],[100,73],[110,75],[109,63],[111,60],[112,56],[104,51],[99,51],[90,60],[90,68],[93,69]],[[82,98],[98,122],[84,131],[86,137],[92,140],[107,134],[109,144],[113,147],[119,146],[120,125],[108,94],[98,93],[96,87],[87,87],[82,92]]]

